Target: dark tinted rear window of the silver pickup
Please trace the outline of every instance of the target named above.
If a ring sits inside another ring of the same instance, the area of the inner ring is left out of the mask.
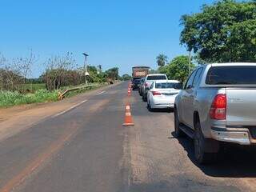
[[[256,84],[256,66],[213,66],[206,77],[208,85]]]

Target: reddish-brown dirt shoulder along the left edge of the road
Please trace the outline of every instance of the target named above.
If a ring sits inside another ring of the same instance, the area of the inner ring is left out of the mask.
[[[93,97],[103,90],[108,90],[110,87],[116,86],[119,83],[89,90],[86,93],[78,94],[59,102],[46,102],[0,109],[0,141],[22,130],[26,130],[45,118],[62,113],[62,111],[68,110],[70,107],[78,105],[78,103]]]

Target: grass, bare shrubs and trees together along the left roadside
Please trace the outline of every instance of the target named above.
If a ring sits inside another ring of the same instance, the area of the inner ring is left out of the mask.
[[[45,70],[39,78],[29,78],[32,66],[37,66],[38,59],[32,50],[27,58],[7,59],[0,54],[0,107],[30,104],[34,102],[54,102],[58,93],[76,86],[85,86],[85,70],[78,67],[73,54],[48,58],[42,64]],[[122,79],[118,68],[102,71],[102,66],[87,66],[90,76],[88,85],[94,88]],[[66,94],[71,97],[87,89],[75,90]]]

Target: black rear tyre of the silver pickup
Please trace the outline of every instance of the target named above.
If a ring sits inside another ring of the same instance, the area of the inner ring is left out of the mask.
[[[204,138],[202,134],[200,122],[197,122],[194,132],[194,157],[199,164],[210,164],[217,160],[218,153],[206,152],[206,146],[208,147],[208,150],[210,146],[210,143],[208,142],[210,141]]]

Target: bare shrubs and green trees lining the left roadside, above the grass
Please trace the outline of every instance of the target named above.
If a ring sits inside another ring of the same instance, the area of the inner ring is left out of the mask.
[[[39,78],[29,78],[31,69],[37,65],[38,57],[30,50],[26,58],[8,60],[0,54],[0,90],[26,92],[28,83],[45,83],[47,90],[58,90],[62,86],[76,86],[84,83],[85,69],[78,67],[70,52],[53,56],[43,63],[45,70]],[[117,80],[118,67],[102,71],[102,66],[87,66],[88,82],[113,82]]]

